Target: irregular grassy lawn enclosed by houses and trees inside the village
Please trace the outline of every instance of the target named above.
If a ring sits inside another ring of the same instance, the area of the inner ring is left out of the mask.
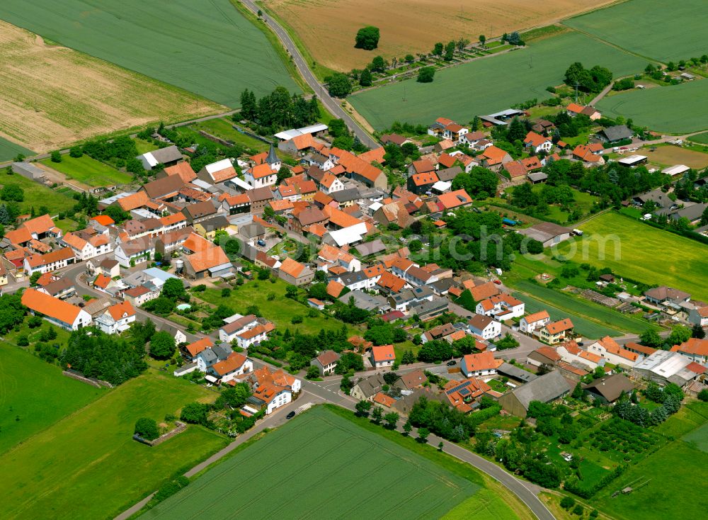
[[[338,330],[342,322],[325,316],[318,312],[316,317],[309,317],[307,313],[311,307],[298,303],[290,298],[285,298],[285,288],[290,284],[278,279],[275,283],[268,280],[249,281],[243,286],[234,287],[229,298],[222,298],[221,289],[207,289],[203,293],[196,293],[195,298],[200,298],[214,305],[228,305],[234,312],[246,312],[246,307],[256,305],[263,313],[263,317],[275,323],[281,331],[290,329],[290,332],[299,330],[303,334],[317,334],[321,329]],[[274,294],[274,300],[268,300],[268,295]],[[292,324],[295,316],[302,316],[302,323]],[[355,332],[349,327],[350,332]]]

